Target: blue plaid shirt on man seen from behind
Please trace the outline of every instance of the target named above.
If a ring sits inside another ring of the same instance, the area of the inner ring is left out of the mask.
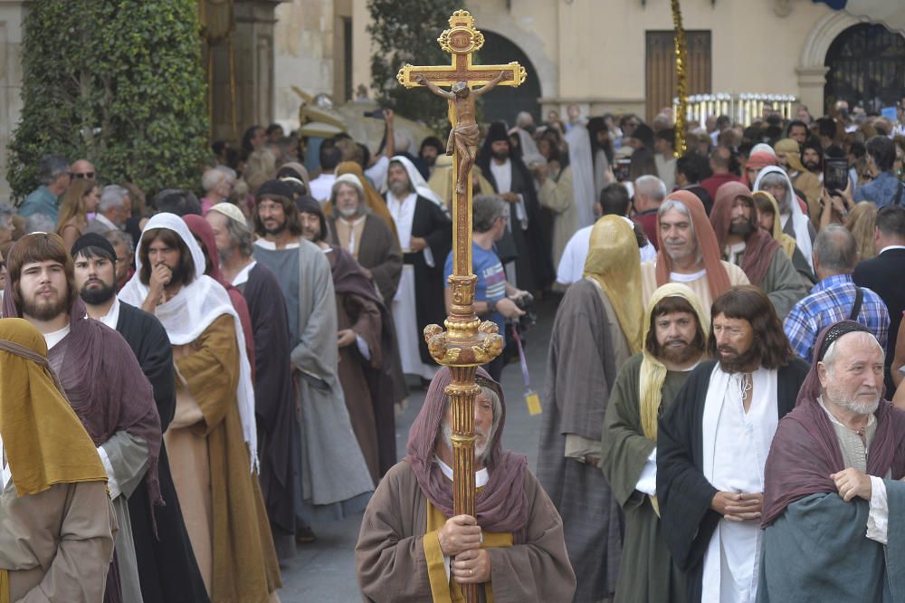
[[[886,349],[890,313],[879,295],[867,287],[862,287],[862,290],[864,299],[861,311],[858,312],[858,322],[870,329],[883,349]],[[851,274],[837,274],[815,284],[811,294],[795,304],[783,326],[786,337],[798,356],[808,362],[812,361],[817,335],[834,322],[844,321],[852,314],[856,291],[857,286],[852,281]]]

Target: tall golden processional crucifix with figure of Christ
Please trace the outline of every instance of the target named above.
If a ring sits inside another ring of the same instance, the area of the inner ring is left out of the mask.
[[[445,321],[424,329],[431,356],[450,368],[452,383],[445,393],[452,400],[452,512],[474,516],[474,398],[481,393],[475,384],[477,368],[500,355],[503,338],[493,321],[481,322],[474,313],[472,273],[472,166],[478,148],[474,98],[494,86],[518,86],[525,81],[525,68],[508,65],[472,65],[472,53],[481,49],[484,35],[474,28],[474,17],[459,10],[449,20],[450,28],[437,38],[443,51],[452,54],[452,65],[415,67],[405,64],[396,78],[406,88],[426,86],[449,101],[452,123],[446,154],[452,155],[452,308]],[[472,86],[483,85],[478,90]],[[440,86],[450,86],[444,91]],[[460,585],[470,603],[477,601],[474,584]]]

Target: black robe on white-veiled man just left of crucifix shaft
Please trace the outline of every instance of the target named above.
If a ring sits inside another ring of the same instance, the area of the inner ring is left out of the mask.
[[[414,311],[420,333],[427,325],[443,325],[443,321],[446,320],[443,263],[452,249],[452,222],[440,206],[423,196],[418,196],[414,202],[412,236],[423,238],[433,254],[433,266],[428,266],[424,262],[422,253],[402,256],[403,264],[414,266]],[[435,364],[423,337],[418,338],[418,351],[423,362]]]

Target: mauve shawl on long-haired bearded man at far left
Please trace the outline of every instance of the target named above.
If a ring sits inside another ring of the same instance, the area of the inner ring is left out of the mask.
[[[12,295],[4,295],[3,305],[6,318],[22,318]],[[47,359],[62,349],[70,351],[59,378],[95,446],[118,431],[148,444],[148,496],[152,505],[163,504],[157,479],[161,434],[154,391],[126,340],[103,322],[88,318],[87,312],[77,297],[69,308],[69,334],[61,341],[66,345],[54,346]]]

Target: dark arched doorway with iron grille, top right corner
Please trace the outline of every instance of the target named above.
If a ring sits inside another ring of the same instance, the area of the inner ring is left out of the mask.
[[[837,100],[868,112],[891,107],[905,94],[905,36],[879,24],[858,24],[839,34],[826,52],[826,109]]]

